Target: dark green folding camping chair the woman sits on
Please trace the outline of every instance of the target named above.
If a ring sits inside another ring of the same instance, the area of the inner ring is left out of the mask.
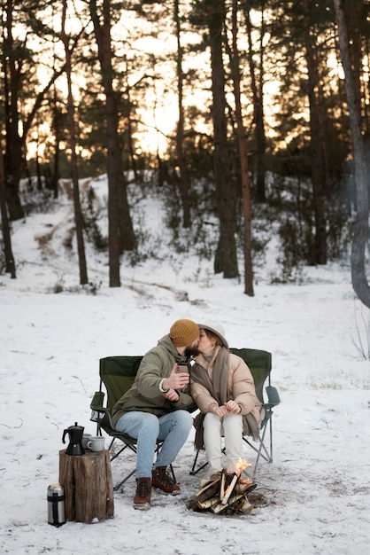
[[[254,348],[230,348],[230,351],[243,358],[244,362],[247,363],[254,379],[256,394],[266,411],[266,416],[261,423],[259,430],[258,447],[251,443],[248,436],[243,436],[243,441],[257,453],[252,473],[252,476],[254,477],[256,475],[260,457],[265,459],[267,463],[273,462],[273,408],[280,403],[280,397],[276,387],[271,385],[271,353]],[[267,403],[265,403],[264,400],[264,387],[266,379]],[[225,448],[223,450],[225,452]],[[193,466],[190,471],[191,475],[197,474],[208,464],[204,463],[196,469],[198,456],[199,451],[197,451],[194,458]]]

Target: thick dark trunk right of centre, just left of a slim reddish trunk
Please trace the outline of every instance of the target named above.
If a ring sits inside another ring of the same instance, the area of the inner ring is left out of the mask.
[[[214,0],[210,4],[209,33],[212,66],[213,164],[220,218],[220,238],[214,259],[214,271],[223,272],[223,277],[237,277],[239,272],[235,244],[235,188],[230,184],[225,70],[222,59],[224,21],[225,2]]]

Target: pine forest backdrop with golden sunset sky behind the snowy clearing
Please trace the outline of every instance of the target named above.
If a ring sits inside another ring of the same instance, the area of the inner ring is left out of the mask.
[[[181,230],[201,240],[218,226],[203,254],[223,277],[242,275],[244,293],[254,294],[253,267],[272,234],[281,264],[272,279],[283,283],[299,281],[304,264],[342,259],[352,241],[352,282],[370,307],[368,8],[360,0],[2,0],[0,271],[16,277],[12,222],[40,195],[43,206],[57,198],[63,178],[81,285],[89,240],[107,250],[110,285],[119,286],[121,255],[135,263],[143,244],[127,187],[148,187],[150,175],[171,205],[173,240]],[[81,202],[81,178],[104,173],[107,237],[92,192]]]

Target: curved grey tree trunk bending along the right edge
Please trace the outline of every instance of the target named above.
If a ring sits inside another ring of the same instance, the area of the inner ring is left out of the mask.
[[[334,0],[338,27],[339,48],[344,70],[344,84],[350,111],[353,160],[357,192],[357,215],[353,226],[351,251],[352,286],[358,299],[370,309],[370,286],[366,279],[366,243],[369,237],[369,193],[366,176],[364,140],[361,136],[360,115],[356,102],[356,88],[351,68],[347,26],[341,0]]]

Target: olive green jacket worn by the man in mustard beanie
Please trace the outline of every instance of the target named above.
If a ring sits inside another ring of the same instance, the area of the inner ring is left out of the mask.
[[[119,418],[130,410],[143,410],[159,417],[173,410],[190,410],[192,405],[193,409],[197,409],[189,395],[189,386],[177,390],[180,395],[177,403],[168,401],[159,390],[162,379],[170,377],[174,363],[186,362],[186,356],[177,352],[169,335],[158,340],[157,347],[151,348],[143,356],[132,387],[114,405],[113,425],[116,425]]]

